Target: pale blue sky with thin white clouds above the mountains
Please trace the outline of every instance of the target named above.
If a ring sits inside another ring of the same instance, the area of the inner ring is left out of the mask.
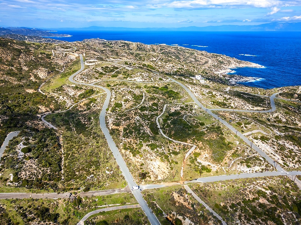
[[[0,0],[0,26],[187,27],[301,22],[301,0]]]

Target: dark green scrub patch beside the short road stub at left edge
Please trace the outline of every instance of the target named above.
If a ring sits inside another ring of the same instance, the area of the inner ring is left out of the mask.
[[[28,143],[21,151],[26,154],[24,159],[16,157],[16,150],[14,146],[19,144],[18,139],[13,139],[8,146],[6,157],[2,157],[3,165],[0,167],[0,172],[4,169],[13,170],[13,182],[17,183],[19,187],[26,187],[28,189],[54,189],[57,190],[57,183],[61,180],[61,146],[57,135],[53,129],[44,128],[41,130],[31,129],[31,131],[22,131],[19,136],[26,137],[32,135],[31,142]],[[27,143],[26,143],[27,144]],[[37,174],[41,178],[28,177],[22,179],[18,175],[23,172],[19,164],[23,160],[35,159],[42,173]],[[49,170],[49,172],[47,171]]]

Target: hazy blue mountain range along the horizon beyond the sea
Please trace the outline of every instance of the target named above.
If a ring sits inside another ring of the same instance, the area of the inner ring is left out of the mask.
[[[180,28],[126,28],[126,27],[98,27],[90,26],[85,28],[55,28],[57,31],[66,30],[95,30],[95,31],[301,31],[301,22],[278,23],[271,22],[260,25],[222,25],[206,27],[180,27]]]

